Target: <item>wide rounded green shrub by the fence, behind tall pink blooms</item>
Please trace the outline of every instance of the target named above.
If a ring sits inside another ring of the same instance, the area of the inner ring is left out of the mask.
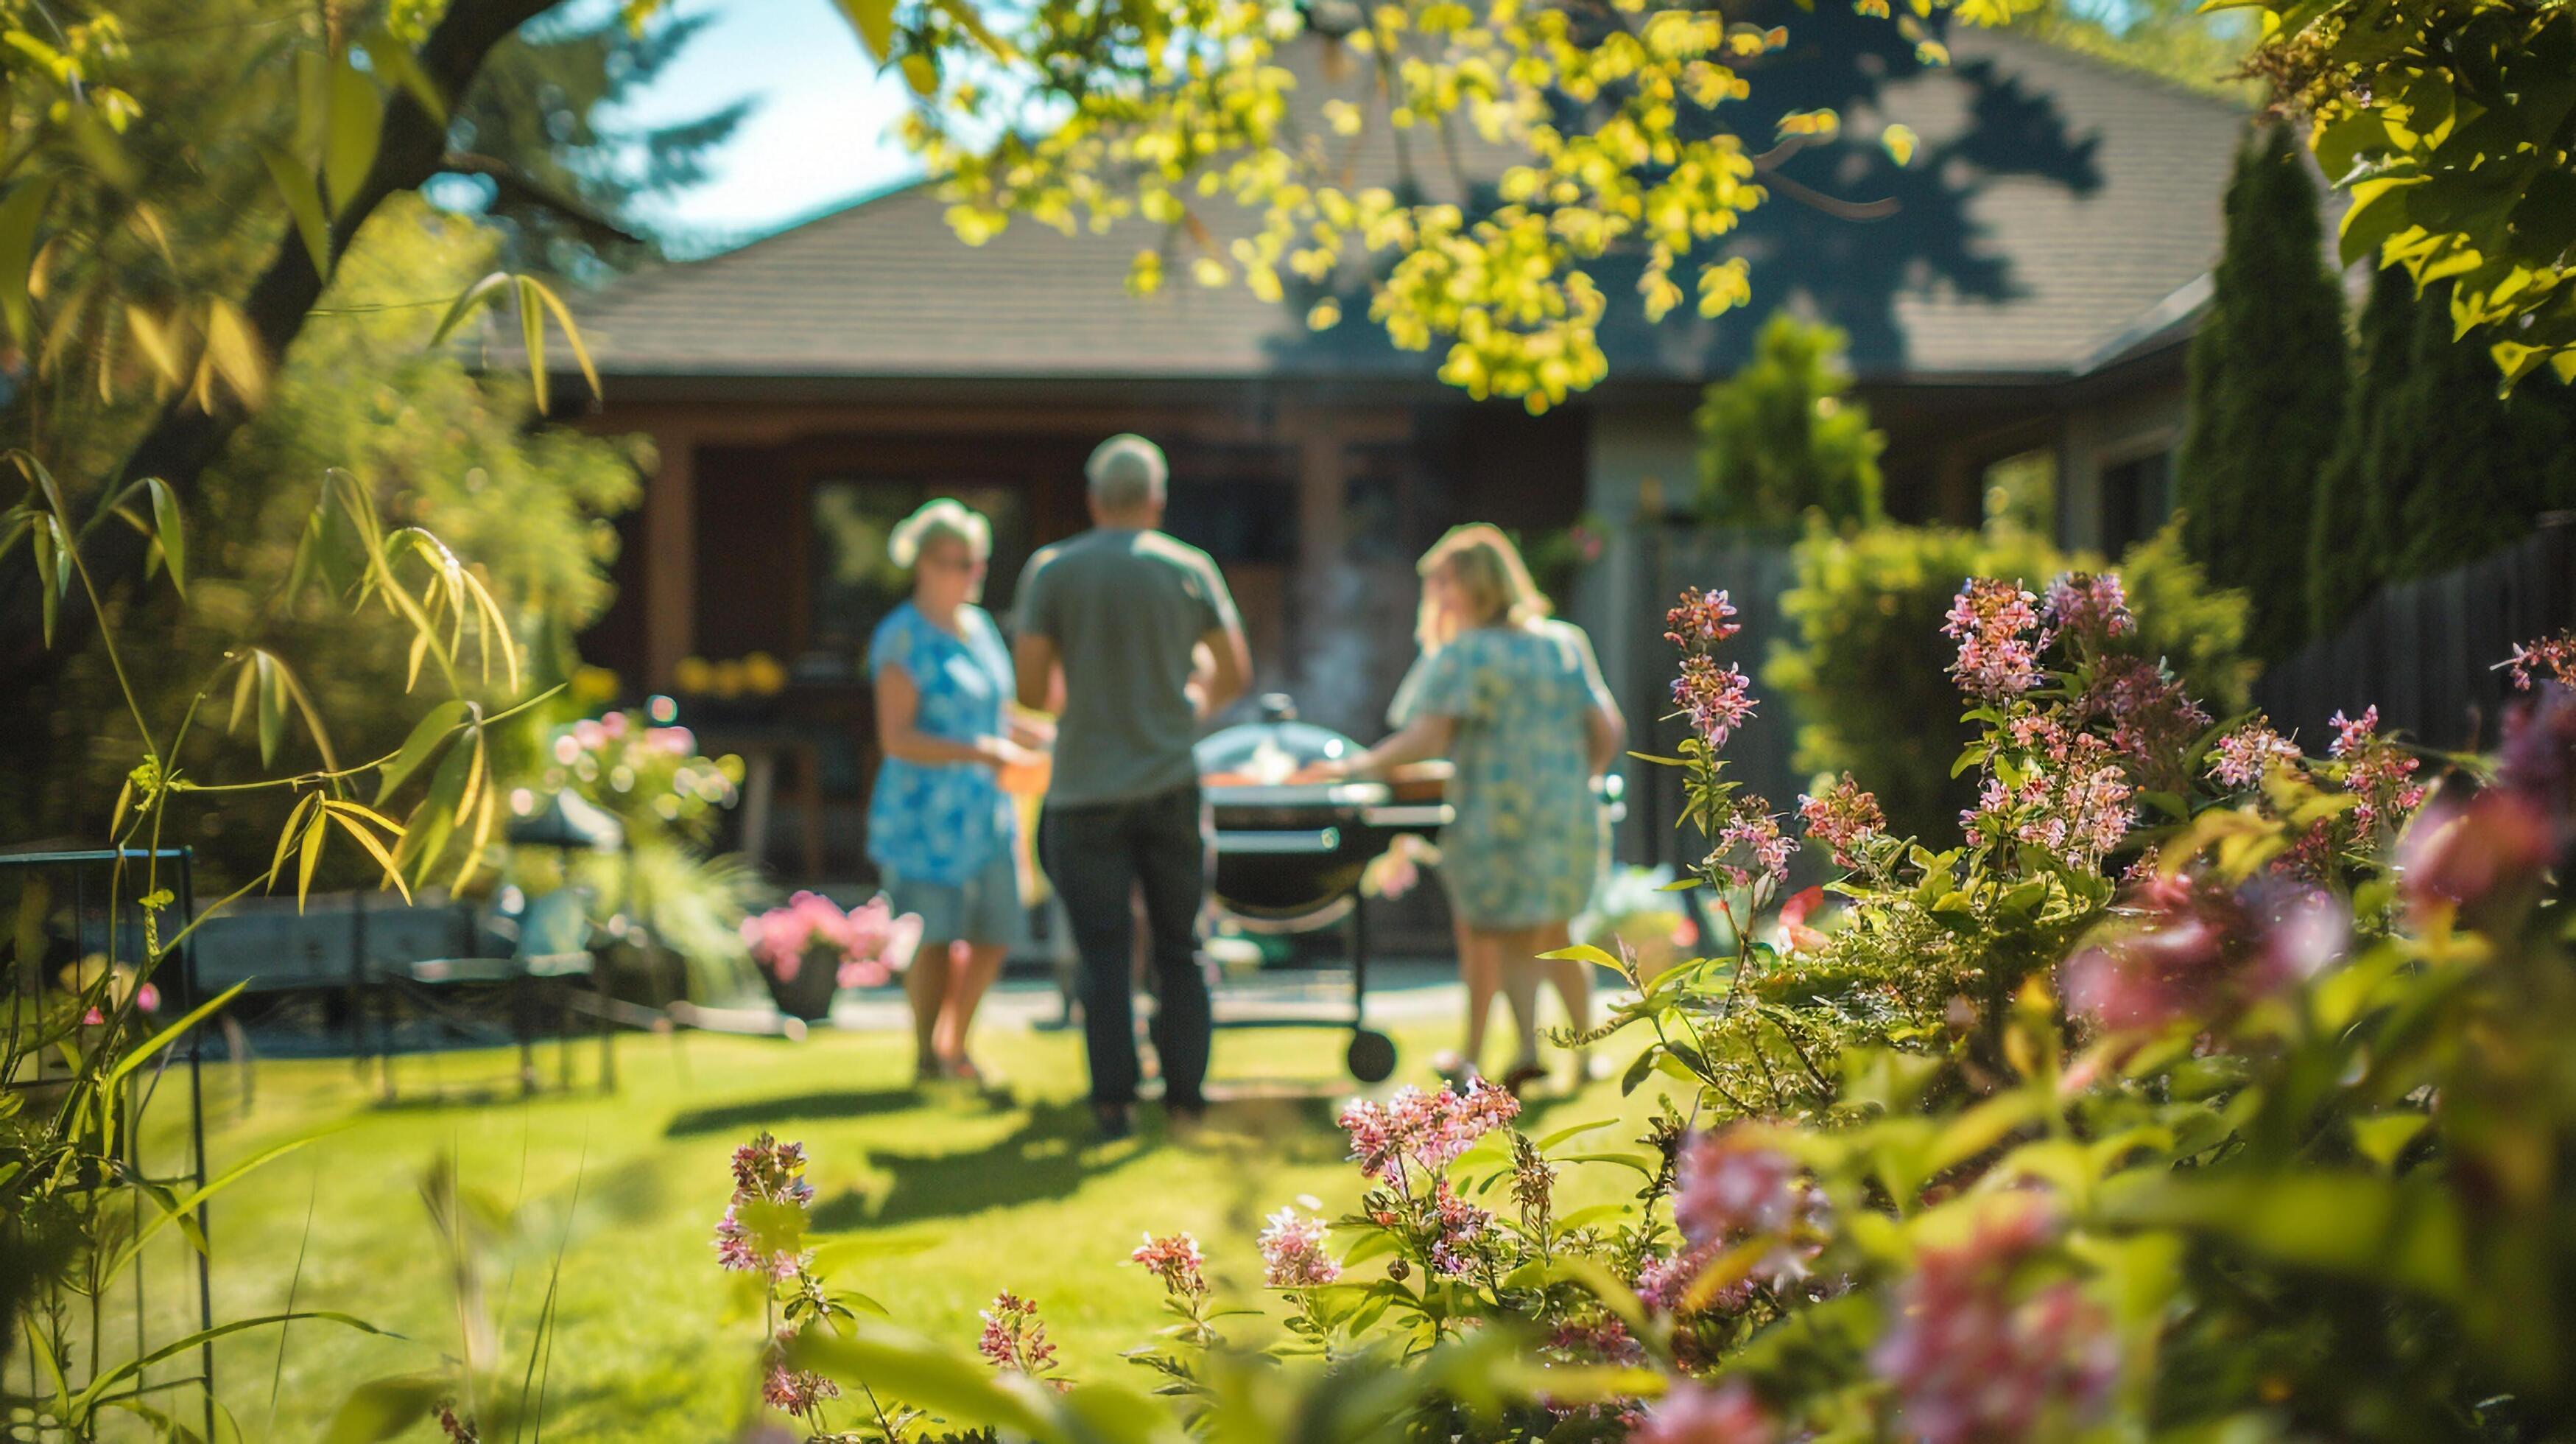
[[[1811,529],[1798,580],[1780,598],[1795,639],[1772,650],[1762,681],[1798,714],[1798,766],[1850,771],[1878,794],[1896,833],[1947,835],[1973,802],[1973,779],[1950,761],[1971,737],[1958,719],[1942,614],[1971,575],[2020,578],[2038,590],[2099,557],[2058,552],[2040,536],[1922,526],[1870,526],[1850,536]],[[2244,593],[2218,590],[2182,554],[2174,529],[2120,557],[2138,611],[2136,645],[2164,658],[2215,717],[2244,709],[2254,663],[2244,652]]]

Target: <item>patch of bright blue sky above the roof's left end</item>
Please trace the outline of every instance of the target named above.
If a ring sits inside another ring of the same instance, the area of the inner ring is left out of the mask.
[[[902,80],[878,77],[832,0],[677,0],[711,15],[636,95],[626,121],[680,121],[755,98],[750,119],[711,155],[714,178],[636,219],[683,250],[747,240],[884,191],[914,175],[894,137]],[[685,235],[683,235],[685,232]]]

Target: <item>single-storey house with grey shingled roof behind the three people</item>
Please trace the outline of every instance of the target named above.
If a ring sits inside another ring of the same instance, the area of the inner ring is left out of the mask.
[[[621,601],[585,652],[652,688],[693,655],[786,658],[796,681],[760,725],[819,737],[809,771],[855,799],[871,763],[858,652],[902,588],[886,526],[930,495],[987,511],[989,601],[1007,603],[1020,560],[1082,526],[1087,449],[1141,431],[1172,454],[1170,526],[1234,580],[1257,686],[1311,719],[1376,732],[1412,655],[1412,557],[1466,518],[1525,534],[1597,518],[1607,549],[1574,614],[1605,665],[1636,676],[1659,665],[1654,629],[1605,627],[1641,596],[1628,521],[1698,485],[1698,392],[1770,307],[1852,335],[1891,513],[1973,521],[1994,464],[2045,454],[2061,542],[2154,529],[2244,113],[2017,34],[1953,28],[1935,70],[1891,26],[1824,10],[1749,75],[1734,116],[1770,134],[1777,113],[1832,106],[1847,137],[1790,157],[1728,240],[1754,304],[1646,325],[1636,268],[1613,258],[1610,379],[1535,418],[1443,387],[1437,353],[1396,351],[1363,320],[1365,294],[1329,333],[1303,325],[1311,294],[1265,304],[1172,281],[1139,299],[1128,260],[1154,227],[1023,222],[969,248],[927,186],[608,286],[580,307],[605,384],[585,425],[649,433],[659,462],[626,521]],[[1301,95],[1360,83],[1321,49],[1296,64]],[[1873,144],[1888,124],[1919,134],[1906,168]],[[1896,211],[1842,219],[1795,191]],[[835,869],[855,866],[858,812],[832,807]]]

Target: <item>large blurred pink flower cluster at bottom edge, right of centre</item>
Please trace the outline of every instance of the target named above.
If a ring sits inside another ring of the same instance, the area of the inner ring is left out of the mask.
[[[1929,1444],[2063,1439],[2097,1413],[2120,1369],[2107,1315],[2071,1282],[2017,1294],[2014,1271],[2056,1233],[2040,1204],[2009,1204],[1958,1248],[1929,1248],[1899,1284],[1896,1325],[1870,1367],[1896,1426]]]

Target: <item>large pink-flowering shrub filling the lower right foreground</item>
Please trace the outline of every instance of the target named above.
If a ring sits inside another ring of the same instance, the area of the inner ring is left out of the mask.
[[[2429,779],[2367,712],[2321,758],[2205,717],[2107,647],[2133,624],[2112,578],[1963,588],[1981,802],[1932,851],[1847,781],[1803,799],[1847,866],[1829,923],[1821,895],[1759,923],[1777,874],[1747,838],[1777,817],[1721,737],[1749,699],[1705,707],[1667,761],[1731,954],[1651,980],[1564,954],[1633,988],[1602,1034],[1646,1037],[1628,1088],[1662,1083],[1636,1150],[1528,1137],[1481,1083],[1352,1101],[1355,1204],[1257,1240],[1280,1328],[1229,1323],[1188,1235],[1136,1248],[1177,1323],[1131,1359],[1177,1416],[1110,1382],[1030,1403],[1061,1380],[1012,1382],[1051,1356],[1010,1297],[992,1392],[938,1374],[938,1416],[1115,1444],[2550,1436],[2576,1410],[2576,691]],[[1731,670],[1723,598],[1672,632],[1690,709]],[[1577,1168],[1643,1186],[1569,1212]],[[788,1354],[930,1387],[948,1354],[871,1331]]]

